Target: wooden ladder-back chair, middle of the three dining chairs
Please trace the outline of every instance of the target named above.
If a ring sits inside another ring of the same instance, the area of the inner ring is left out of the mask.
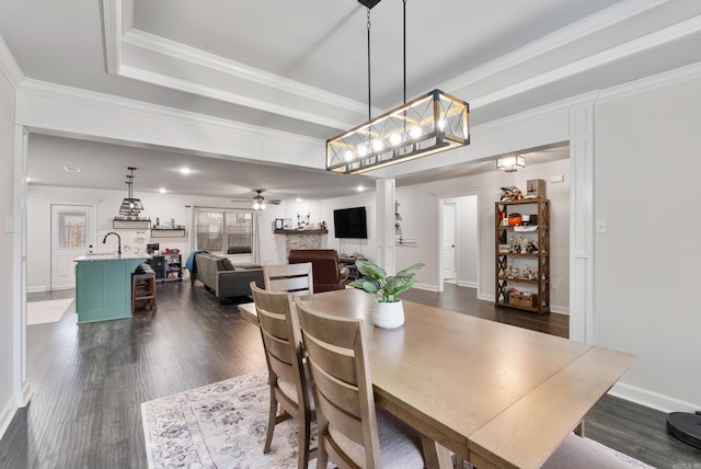
[[[271,385],[271,410],[263,453],[271,450],[275,425],[290,417],[299,422],[298,467],[307,469],[317,450],[310,449],[311,422],[315,420],[311,388],[302,364],[299,324],[287,291],[269,291],[251,282]],[[278,412],[279,407],[279,412]]]

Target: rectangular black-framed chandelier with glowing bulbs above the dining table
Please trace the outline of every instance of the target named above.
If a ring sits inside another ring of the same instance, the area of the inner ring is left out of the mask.
[[[326,140],[326,170],[360,174],[470,144],[470,105],[430,91]]]

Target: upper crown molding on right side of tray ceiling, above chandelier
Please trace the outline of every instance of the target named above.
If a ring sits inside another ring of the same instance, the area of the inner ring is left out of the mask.
[[[452,80],[443,83],[440,89],[459,90],[473,83],[503,73],[517,65],[528,62],[537,57],[562,47],[565,44],[590,36],[606,27],[613,26],[630,18],[639,15],[652,8],[666,3],[668,0],[628,0],[609,7],[598,13],[585,18],[567,27],[561,28],[542,38],[520,47],[509,54],[501,56],[483,66],[476,67]],[[595,65],[596,66],[596,65]],[[472,105],[472,103],[470,103]]]

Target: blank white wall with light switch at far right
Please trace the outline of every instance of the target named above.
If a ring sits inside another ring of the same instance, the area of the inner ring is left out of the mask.
[[[595,341],[637,355],[616,389],[663,410],[701,409],[699,103],[694,79],[596,106]]]

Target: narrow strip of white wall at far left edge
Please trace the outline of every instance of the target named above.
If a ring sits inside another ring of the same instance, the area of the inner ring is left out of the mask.
[[[0,38],[1,41],[1,38]],[[13,287],[14,245],[13,233],[5,229],[8,217],[14,217],[14,90],[0,69],[0,436],[4,433],[14,415],[13,399],[14,367],[16,356],[14,324],[19,314],[14,310],[15,290]]]

